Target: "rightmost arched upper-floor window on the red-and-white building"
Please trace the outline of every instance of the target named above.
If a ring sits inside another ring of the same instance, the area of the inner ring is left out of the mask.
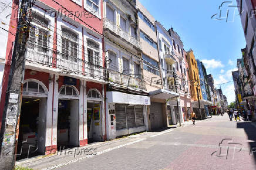
[[[90,39],[87,39],[87,55],[91,66],[100,66],[99,44]]]

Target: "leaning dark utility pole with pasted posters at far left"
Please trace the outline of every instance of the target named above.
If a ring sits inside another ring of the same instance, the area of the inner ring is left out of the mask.
[[[19,117],[25,74],[26,42],[31,28],[31,8],[33,4],[35,4],[35,0],[22,0],[19,9],[14,52],[12,54],[0,132],[0,169],[14,169],[15,166],[15,149],[18,142]]]

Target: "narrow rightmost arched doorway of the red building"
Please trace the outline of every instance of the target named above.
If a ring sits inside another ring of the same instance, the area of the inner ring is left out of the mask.
[[[87,93],[87,138],[88,142],[102,141],[102,95],[97,89]]]

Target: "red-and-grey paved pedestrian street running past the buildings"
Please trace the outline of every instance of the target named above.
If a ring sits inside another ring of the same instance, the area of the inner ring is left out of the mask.
[[[256,169],[255,141],[256,123],[230,121],[224,114],[196,121],[196,125],[188,122],[183,127],[88,145],[97,148],[96,155],[59,154],[17,165],[34,169]]]

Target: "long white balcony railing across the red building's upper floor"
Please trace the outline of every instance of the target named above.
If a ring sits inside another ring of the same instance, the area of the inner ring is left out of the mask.
[[[56,55],[56,58],[53,58],[53,55]],[[56,64],[53,63],[53,60],[56,61]],[[39,69],[43,68],[38,64],[49,67],[49,70],[59,69],[59,72],[65,74],[80,75],[90,79],[106,79],[106,69],[102,66],[96,66],[76,57],[64,56],[62,53],[53,50],[42,53],[27,49],[26,62],[36,64]]]

